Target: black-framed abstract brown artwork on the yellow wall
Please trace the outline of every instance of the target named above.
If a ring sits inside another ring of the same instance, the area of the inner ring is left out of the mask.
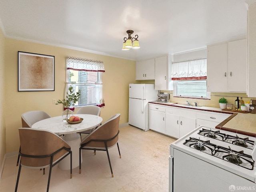
[[[18,91],[54,91],[55,57],[18,51]]]

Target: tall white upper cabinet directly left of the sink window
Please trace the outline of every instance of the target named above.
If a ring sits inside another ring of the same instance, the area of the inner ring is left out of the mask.
[[[155,58],[155,90],[173,90],[168,56]]]

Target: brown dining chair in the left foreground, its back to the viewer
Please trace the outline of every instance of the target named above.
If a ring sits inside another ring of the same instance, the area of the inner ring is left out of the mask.
[[[19,134],[20,166],[15,192],[18,188],[22,166],[34,169],[50,167],[47,184],[48,192],[52,167],[70,155],[70,178],[72,178],[72,151],[70,146],[60,136],[48,130],[33,128],[19,128]]]

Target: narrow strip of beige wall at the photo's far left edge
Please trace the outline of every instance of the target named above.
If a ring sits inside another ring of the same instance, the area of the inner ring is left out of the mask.
[[[2,166],[4,154],[6,154],[6,138],[5,138],[5,72],[4,72],[4,34],[0,28],[0,178],[2,173]]]

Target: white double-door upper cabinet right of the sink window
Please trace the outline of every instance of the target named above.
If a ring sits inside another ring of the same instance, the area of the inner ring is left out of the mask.
[[[207,47],[207,91],[246,92],[246,39]]]

